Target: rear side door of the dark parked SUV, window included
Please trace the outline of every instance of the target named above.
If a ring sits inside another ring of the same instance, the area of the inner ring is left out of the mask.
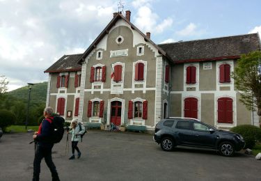
[[[180,145],[193,144],[192,124],[188,120],[179,120],[175,126],[175,134]]]

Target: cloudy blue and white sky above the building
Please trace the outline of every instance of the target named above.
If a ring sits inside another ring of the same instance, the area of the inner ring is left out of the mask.
[[[0,0],[0,75],[8,91],[47,81],[64,54],[83,53],[118,12],[118,0]],[[259,32],[260,0],[122,0],[156,44]]]

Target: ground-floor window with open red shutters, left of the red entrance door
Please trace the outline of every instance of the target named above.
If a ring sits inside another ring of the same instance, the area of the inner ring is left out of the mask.
[[[87,111],[87,116],[99,116],[100,118],[103,117],[103,112],[104,112],[104,101],[88,101],[88,111]]]

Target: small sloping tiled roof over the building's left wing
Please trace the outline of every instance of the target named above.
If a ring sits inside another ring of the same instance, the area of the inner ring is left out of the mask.
[[[49,72],[73,72],[81,70],[81,65],[77,63],[82,54],[64,55],[51,67],[45,70],[45,73]]]

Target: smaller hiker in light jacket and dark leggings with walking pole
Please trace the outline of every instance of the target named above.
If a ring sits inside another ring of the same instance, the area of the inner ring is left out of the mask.
[[[72,156],[69,159],[75,159],[74,151],[77,150],[78,155],[77,158],[81,157],[81,152],[77,146],[78,142],[81,140],[81,134],[84,134],[85,127],[81,123],[77,122],[77,119],[72,120],[70,125],[71,130],[67,132],[68,134],[72,134]]]

